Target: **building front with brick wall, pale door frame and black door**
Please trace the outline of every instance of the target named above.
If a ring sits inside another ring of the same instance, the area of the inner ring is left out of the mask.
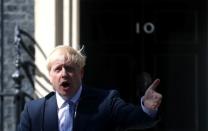
[[[86,85],[115,88],[128,102],[137,103],[147,79],[159,77],[162,119],[148,131],[208,130],[206,0],[0,5],[0,131],[15,131],[25,101],[53,90],[45,60],[61,44],[85,46]]]

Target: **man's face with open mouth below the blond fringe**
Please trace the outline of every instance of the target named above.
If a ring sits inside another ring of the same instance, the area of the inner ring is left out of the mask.
[[[83,69],[66,60],[63,54],[57,53],[51,61],[50,82],[61,96],[72,97],[79,89],[82,77]]]

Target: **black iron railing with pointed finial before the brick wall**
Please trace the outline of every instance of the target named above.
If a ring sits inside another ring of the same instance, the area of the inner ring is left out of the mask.
[[[23,67],[23,62],[21,61],[21,47],[25,48],[24,46],[24,42],[21,38],[22,34],[26,34],[26,32],[22,31],[19,29],[18,26],[15,26],[15,30],[14,30],[14,45],[15,45],[15,51],[16,51],[16,58],[15,58],[15,71],[12,74],[12,79],[15,83],[14,89],[12,92],[5,92],[2,88],[0,90],[0,98],[1,98],[1,103],[0,106],[2,106],[1,108],[1,121],[0,121],[0,130],[3,131],[3,122],[4,122],[4,108],[3,108],[3,102],[4,102],[4,97],[6,96],[11,96],[14,97],[14,103],[15,103],[15,109],[16,109],[16,125],[19,123],[19,119],[20,119],[20,114],[21,111],[24,108],[24,104],[25,104],[25,98],[29,98],[29,99],[33,99],[33,97],[30,94],[27,94],[25,91],[23,91],[22,88],[22,80],[24,79],[24,75],[21,73],[21,68]],[[28,34],[27,34],[28,35]],[[32,37],[31,37],[32,38]],[[31,39],[30,38],[30,39]],[[32,39],[34,42],[34,39]],[[28,50],[27,50],[28,51]],[[27,52],[26,51],[26,52]],[[29,53],[28,53],[29,54]],[[32,59],[34,60],[34,55],[33,54],[29,54],[30,57],[32,57]],[[1,60],[3,61],[3,60]],[[1,70],[3,71],[3,70]],[[32,77],[32,76],[29,76]],[[30,80],[32,78],[29,78]],[[3,81],[1,81],[1,85]],[[3,86],[2,86],[3,87]]]

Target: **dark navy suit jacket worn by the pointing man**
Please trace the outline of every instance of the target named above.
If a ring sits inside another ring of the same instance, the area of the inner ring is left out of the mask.
[[[73,131],[114,131],[116,128],[149,128],[157,121],[139,106],[124,102],[116,90],[83,88]],[[58,131],[54,92],[26,103],[18,131]]]

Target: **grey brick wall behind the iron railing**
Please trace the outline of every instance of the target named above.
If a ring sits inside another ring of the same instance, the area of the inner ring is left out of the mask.
[[[1,21],[3,20],[3,27],[0,30],[3,31],[0,37],[1,41],[1,91],[13,93],[15,91],[15,82],[12,79],[12,74],[15,72],[15,58],[16,51],[14,45],[14,28],[15,25],[19,25],[20,29],[23,29],[28,34],[33,36],[34,34],[34,0],[1,0],[1,5],[3,5],[3,15],[1,13]],[[34,45],[32,41],[22,35],[22,39],[25,46],[29,49],[29,52],[34,55]],[[21,68],[21,73],[24,75],[22,80],[21,89],[28,94],[33,93],[33,83],[30,77],[34,76],[34,68],[28,63],[33,63],[33,58],[21,48],[21,61],[23,62],[25,68]],[[26,71],[25,71],[26,70]],[[33,77],[32,77],[33,78]],[[16,128],[16,99],[11,96],[4,97],[1,99],[0,114],[3,119],[3,123],[0,122],[3,131],[15,131]],[[0,129],[1,130],[1,129]]]

